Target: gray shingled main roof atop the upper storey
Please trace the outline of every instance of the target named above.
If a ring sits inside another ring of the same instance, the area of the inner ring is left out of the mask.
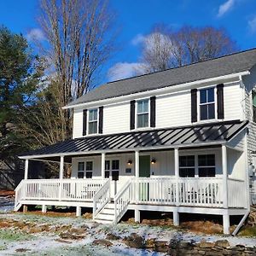
[[[225,55],[210,61],[201,61],[166,71],[149,73],[131,79],[122,79],[91,90],[78,100],[69,103],[73,106],[84,102],[95,102],[116,96],[125,96],[141,91],[154,90],[184,84],[201,79],[210,79],[230,73],[250,70],[256,64],[256,49]]]

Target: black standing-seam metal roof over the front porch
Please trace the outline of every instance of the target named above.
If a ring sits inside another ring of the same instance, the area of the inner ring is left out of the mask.
[[[119,134],[81,137],[21,154],[21,159],[49,159],[60,155],[128,152],[160,148],[183,148],[230,141],[247,126],[247,121],[232,120],[167,129],[132,131]],[[66,158],[66,157],[65,157]]]

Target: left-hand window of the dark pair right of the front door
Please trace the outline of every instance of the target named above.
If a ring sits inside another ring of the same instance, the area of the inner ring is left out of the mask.
[[[179,157],[179,177],[195,177],[195,155]]]

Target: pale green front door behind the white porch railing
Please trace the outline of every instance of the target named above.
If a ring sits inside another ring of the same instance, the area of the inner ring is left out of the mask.
[[[141,155],[139,164],[139,177],[150,177],[150,155]],[[149,184],[142,182],[139,184],[140,201],[148,201]]]

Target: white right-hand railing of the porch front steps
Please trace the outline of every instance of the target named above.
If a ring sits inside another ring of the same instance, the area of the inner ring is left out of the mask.
[[[127,181],[122,189],[113,197],[114,202],[114,219],[113,223],[117,224],[127,211],[131,195],[129,189],[131,188],[131,181]],[[128,191],[128,196],[125,192]]]

